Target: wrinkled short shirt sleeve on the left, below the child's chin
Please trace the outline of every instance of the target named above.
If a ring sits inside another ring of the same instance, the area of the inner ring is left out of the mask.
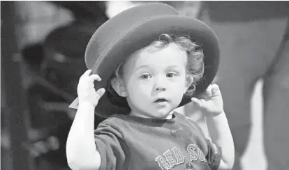
[[[101,155],[99,170],[124,167],[125,154],[121,134],[108,124],[101,123],[94,131],[96,148]]]

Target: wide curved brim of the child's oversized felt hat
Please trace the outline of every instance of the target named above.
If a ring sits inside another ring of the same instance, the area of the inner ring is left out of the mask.
[[[146,45],[149,45],[162,33],[189,36],[193,42],[201,45],[204,56],[205,72],[204,76],[198,82],[195,88],[195,95],[203,93],[209,84],[212,83],[219,65],[219,45],[214,31],[204,22],[193,17],[184,17],[180,15],[163,15],[157,17],[148,17],[134,24],[130,29],[116,37],[106,47],[105,52],[98,56],[95,63],[87,62],[87,68],[92,70],[92,74],[101,77],[101,82],[95,83],[95,88],[106,88],[110,76],[114,73],[117,65],[124,61],[126,57]],[[94,36],[93,36],[94,37]],[[96,58],[98,49],[94,47],[97,43],[93,38],[87,45],[85,59]],[[99,43],[99,42],[98,42]],[[179,107],[191,102],[191,98],[184,97]],[[108,117],[111,114],[126,114],[130,111],[128,108],[112,105],[108,100],[108,95],[103,95],[96,107],[96,114],[102,117]]]

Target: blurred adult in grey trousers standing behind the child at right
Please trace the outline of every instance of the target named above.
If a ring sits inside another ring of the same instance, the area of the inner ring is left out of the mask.
[[[250,102],[264,81],[264,145],[267,169],[289,167],[288,1],[203,1],[200,19],[212,26],[221,45],[216,83],[235,141],[236,161],[251,130]],[[258,157],[256,157],[258,159]]]

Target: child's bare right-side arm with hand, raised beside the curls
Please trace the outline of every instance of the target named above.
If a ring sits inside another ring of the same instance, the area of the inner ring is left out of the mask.
[[[223,99],[218,85],[210,85],[204,98],[200,100],[192,98],[192,101],[195,106],[201,108],[213,143],[221,147],[222,157],[218,169],[232,169],[235,160],[235,147],[228,120],[223,111]]]

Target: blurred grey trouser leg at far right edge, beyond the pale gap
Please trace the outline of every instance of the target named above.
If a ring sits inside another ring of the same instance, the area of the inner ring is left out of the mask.
[[[286,19],[283,22],[286,22]],[[279,56],[276,56],[276,62],[272,70],[265,75],[263,93],[265,102],[264,144],[268,163],[267,169],[288,169],[289,40],[285,42],[285,45],[281,44],[281,51]]]

